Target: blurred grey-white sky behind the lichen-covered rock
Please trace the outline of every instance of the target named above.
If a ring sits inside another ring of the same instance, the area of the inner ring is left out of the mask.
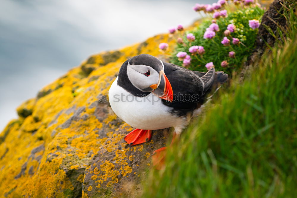
[[[190,25],[204,0],[1,0],[0,133],[16,108],[91,54]]]

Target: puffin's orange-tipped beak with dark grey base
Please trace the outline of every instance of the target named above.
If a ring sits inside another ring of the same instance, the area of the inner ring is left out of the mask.
[[[159,73],[159,83],[157,88],[153,91],[153,94],[157,95],[159,98],[168,100],[169,102],[173,101],[172,87],[164,71]]]

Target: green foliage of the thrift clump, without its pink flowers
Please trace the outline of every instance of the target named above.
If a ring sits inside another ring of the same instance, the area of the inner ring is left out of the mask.
[[[191,56],[192,61],[189,69],[195,71],[207,71],[205,64],[208,62],[213,62],[217,71],[224,71],[228,74],[231,74],[233,69],[237,69],[241,66],[242,62],[247,59],[255,48],[255,41],[257,37],[257,29],[253,30],[249,27],[249,20],[257,19],[260,20],[264,10],[260,7],[249,7],[246,9],[238,9],[236,12],[228,13],[227,18],[217,19],[217,24],[219,25],[219,32],[216,33],[216,36],[213,39],[204,39],[203,34],[211,24],[211,20],[204,20],[199,27],[188,33],[195,35],[195,41],[189,42],[184,35],[184,44],[178,44],[176,47],[176,52],[171,56],[171,61],[173,64],[182,65],[182,61],[179,61],[176,57],[178,52],[187,52],[189,53],[189,47],[194,45],[201,45],[205,49],[205,54],[201,58],[199,55]],[[242,44],[233,45],[232,38],[230,39],[230,46],[224,46],[221,41],[225,37],[224,31],[227,29],[228,24],[232,23],[236,26],[236,31],[231,33],[231,36],[238,38]],[[230,58],[228,53],[230,51],[236,52],[235,58]],[[221,67],[222,61],[228,61],[228,67]]]

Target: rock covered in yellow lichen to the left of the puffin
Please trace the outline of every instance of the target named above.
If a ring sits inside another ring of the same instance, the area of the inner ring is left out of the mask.
[[[124,176],[135,177],[154,148],[127,147],[123,138],[132,127],[102,98],[128,58],[148,53],[165,60],[161,42],[175,41],[157,35],[93,55],[21,104],[19,118],[0,134],[0,197],[91,197],[119,191]]]

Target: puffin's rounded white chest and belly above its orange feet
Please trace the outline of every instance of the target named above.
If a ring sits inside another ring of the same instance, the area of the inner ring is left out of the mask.
[[[171,107],[164,105],[154,94],[136,97],[113,82],[109,89],[109,103],[116,115],[130,126],[138,129],[165,129],[176,126],[184,118],[169,113]]]

